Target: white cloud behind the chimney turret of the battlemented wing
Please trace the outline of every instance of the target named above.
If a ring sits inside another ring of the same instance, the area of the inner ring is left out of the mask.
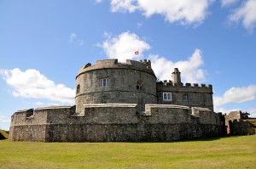
[[[172,62],[158,55],[150,55],[149,59],[151,59],[156,76],[161,80],[171,80],[172,70],[176,67],[182,73],[183,82],[201,82],[205,78],[205,71],[200,69],[203,60],[199,49],[195,49],[189,59],[178,62]]]

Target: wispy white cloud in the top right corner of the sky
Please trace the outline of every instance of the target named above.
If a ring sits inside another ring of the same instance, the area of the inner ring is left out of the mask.
[[[256,25],[256,0],[247,0],[241,7],[236,8],[233,14],[230,14],[230,21],[238,22],[248,30],[253,31]]]

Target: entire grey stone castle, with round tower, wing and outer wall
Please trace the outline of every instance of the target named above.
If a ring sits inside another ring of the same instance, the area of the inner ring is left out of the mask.
[[[213,112],[212,85],[160,82],[150,60],[118,59],[84,65],[74,106],[19,110],[10,140],[41,142],[175,141],[219,136],[224,115]]]

